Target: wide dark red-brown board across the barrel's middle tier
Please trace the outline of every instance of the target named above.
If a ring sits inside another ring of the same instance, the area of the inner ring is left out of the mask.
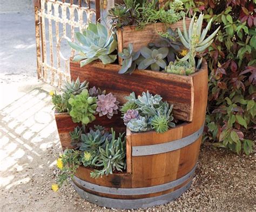
[[[132,91],[141,95],[149,90],[152,94],[159,94],[163,99],[174,105],[173,116],[183,121],[192,121],[193,108],[193,78],[154,72],[152,70],[136,70],[133,74],[118,74],[119,65],[103,65],[92,62],[80,68],[78,62],[70,61],[71,79],[87,80],[92,86],[105,89],[117,96],[121,103],[125,103],[125,96]]]

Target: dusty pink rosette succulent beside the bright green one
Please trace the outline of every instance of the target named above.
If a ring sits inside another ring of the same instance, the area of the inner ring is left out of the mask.
[[[117,98],[113,96],[112,93],[107,95],[99,95],[97,101],[97,109],[99,116],[107,116],[107,118],[112,118],[114,114],[118,113],[119,102]]]

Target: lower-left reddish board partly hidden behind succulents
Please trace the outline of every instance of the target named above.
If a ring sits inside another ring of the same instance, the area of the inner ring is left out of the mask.
[[[62,149],[72,149],[71,137],[69,135],[69,132],[73,131],[76,126],[81,124],[73,123],[72,117],[68,114],[68,112],[55,112],[55,121]],[[94,125],[105,126],[107,130],[111,130],[111,128],[113,128],[118,133],[125,132],[125,125],[123,124],[120,113],[114,115],[111,119],[107,118],[106,116],[99,117],[98,115],[96,115],[96,120],[88,124],[86,127],[89,129],[92,128]]]

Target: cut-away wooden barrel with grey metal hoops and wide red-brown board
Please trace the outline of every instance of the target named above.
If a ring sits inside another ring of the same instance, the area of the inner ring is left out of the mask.
[[[73,178],[74,186],[81,197],[99,206],[135,209],[167,203],[192,183],[204,129],[207,63],[203,61],[201,69],[190,76],[147,70],[119,75],[119,68],[97,62],[83,68],[70,64],[72,79],[79,76],[117,95],[123,103],[132,91],[159,94],[174,104],[174,117],[186,122],[161,134],[127,129],[126,172],[92,179],[91,168],[81,166]]]

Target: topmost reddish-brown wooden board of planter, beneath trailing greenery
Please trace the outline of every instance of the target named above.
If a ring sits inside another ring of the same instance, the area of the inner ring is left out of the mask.
[[[186,19],[186,28],[190,25],[190,19]],[[167,28],[172,30],[179,28],[183,31],[183,20],[179,20],[175,24],[166,25],[164,23],[153,23],[146,25],[143,29],[136,30],[136,26],[124,26],[123,29],[117,31],[118,52],[123,52],[129,44],[133,44],[134,51],[139,51],[140,48],[147,46],[149,43],[156,43],[161,38],[159,33],[165,33]],[[122,59],[119,58],[119,64]]]

